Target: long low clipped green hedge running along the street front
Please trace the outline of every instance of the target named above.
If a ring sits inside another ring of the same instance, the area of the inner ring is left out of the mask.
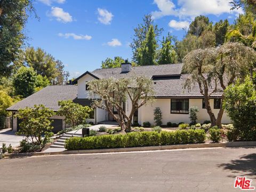
[[[202,129],[177,131],[142,131],[127,134],[99,135],[92,137],[74,137],[65,141],[68,150],[106,149],[123,147],[175,145],[187,143],[202,143],[206,133]]]

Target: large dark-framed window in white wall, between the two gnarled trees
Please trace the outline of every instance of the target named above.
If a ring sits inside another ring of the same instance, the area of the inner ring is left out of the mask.
[[[188,99],[171,99],[171,113],[188,114]]]

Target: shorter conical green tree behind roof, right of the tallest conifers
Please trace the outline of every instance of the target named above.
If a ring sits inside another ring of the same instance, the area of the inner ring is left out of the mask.
[[[168,34],[167,37],[163,37],[162,48],[159,50],[158,61],[159,65],[175,63],[177,54],[174,51],[174,46],[172,45],[173,37]]]

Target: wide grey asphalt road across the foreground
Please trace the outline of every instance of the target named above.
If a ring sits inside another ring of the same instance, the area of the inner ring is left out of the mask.
[[[242,191],[256,148],[59,155],[0,160],[0,191]]]

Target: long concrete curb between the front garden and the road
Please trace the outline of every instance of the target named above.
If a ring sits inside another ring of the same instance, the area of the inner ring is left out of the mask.
[[[65,150],[65,151],[55,151],[55,152],[5,154],[4,156],[7,158],[15,158],[15,157],[31,157],[31,156],[49,156],[49,155],[118,153],[118,152],[130,152],[130,151],[167,150],[167,149],[212,148],[212,147],[251,147],[251,146],[256,146],[256,141],[195,143],[195,144],[184,144],[184,145],[129,147],[129,148],[113,148],[113,149]]]

